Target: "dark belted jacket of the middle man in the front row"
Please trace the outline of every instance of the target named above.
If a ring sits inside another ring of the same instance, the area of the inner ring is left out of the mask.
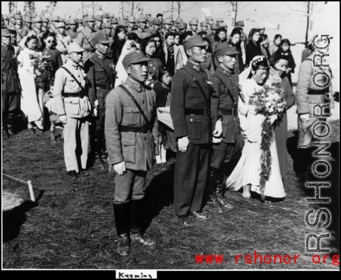
[[[206,144],[211,138],[211,120],[209,115],[186,115],[185,109],[203,110],[209,108],[209,104],[203,97],[198,85],[193,82],[189,73],[203,86],[209,99],[209,87],[207,85],[207,73],[202,67],[187,61],[182,69],[177,71],[172,80],[170,116],[173,120],[175,138],[189,136],[189,142],[193,144]]]

